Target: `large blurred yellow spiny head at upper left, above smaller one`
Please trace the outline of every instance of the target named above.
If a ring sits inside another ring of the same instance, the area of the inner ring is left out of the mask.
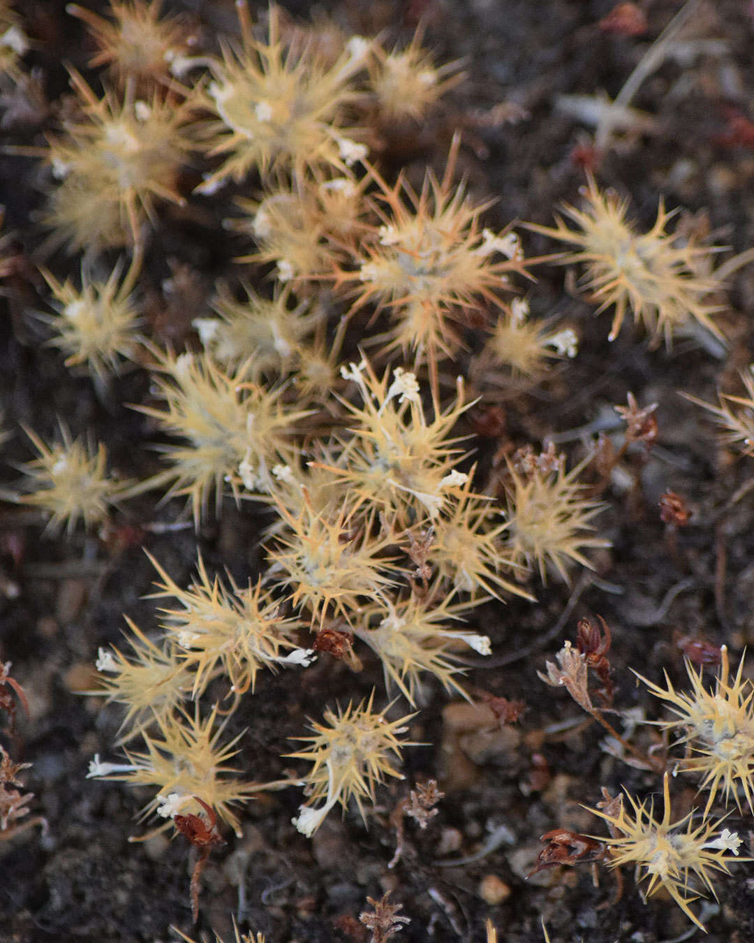
[[[192,108],[157,92],[136,99],[130,86],[123,95],[106,91],[97,98],[78,73],[72,71],[71,81],[82,118],[49,140],[47,161],[61,183],[52,190],[45,223],[70,252],[139,246],[141,227],[155,223],[160,201],[184,202],[177,181],[194,146]]]

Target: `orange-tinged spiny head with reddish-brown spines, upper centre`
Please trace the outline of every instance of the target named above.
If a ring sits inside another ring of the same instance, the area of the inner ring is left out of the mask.
[[[481,223],[489,203],[474,203],[463,183],[453,184],[460,138],[451,147],[445,174],[428,170],[417,192],[403,175],[394,186],[372,170],[379,191],[382,225],[354,256],[354,272],[338,273],[336,284],[354,283],[352,310],[369,304],[386,308],[392,327],[374,342],[385,353],[413,352],[427,362],[436,389],[437,362],[461,346],[459,324],[468,308],[506,308],[500,296],[514,286],[510,276],[526,273],[513,232],[496,235]],[[495,256],[502,256],[496,259]]]

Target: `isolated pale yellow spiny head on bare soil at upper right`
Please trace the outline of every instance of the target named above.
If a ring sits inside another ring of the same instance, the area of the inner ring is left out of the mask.
[[[669,346],[675,334],[695,321],[722,338],[713,321],[720,306],[710,301],[722,284],[702,265],[714,249],[668,232],[674,214],[665,210],[662,200],[654,225],[642,233],[627,220],[628,200],[600,191],[592,176],[583,197],[583,209],[563,207],[577,228],[561,218],[554,228],[531,223],[529,228],[576,246],[560,263],[585,265],[585,286],[600,303],[598,313],[615,306],[609,339],[618,336],[627,311],[657,343],[664,339]]]

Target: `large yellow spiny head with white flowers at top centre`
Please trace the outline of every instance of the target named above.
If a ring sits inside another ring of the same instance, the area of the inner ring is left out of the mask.
[[[322,61],[313,47],[293,56],[280,39],[276,7],[270,6],[262,42],[254,39],[245,0],[237,6],[241,47],[222,44],[204,91],[205,107],[219,119],[205,127],[207,152],[223,162],[200,190],[253,171],[303,180],[307,171],[342,170],[366,157],[366,148],[352,140],[356,130],[343,124],[355,100],[350,80],[364,66],[366,41],[347,48],[335,63]]]

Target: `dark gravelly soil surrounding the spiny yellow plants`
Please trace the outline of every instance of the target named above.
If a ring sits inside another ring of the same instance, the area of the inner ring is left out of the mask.
[[[294,15],[312,13],[304,0],[284,6]],[[551,224],[554,207],[578,200],[580,157],[589,158],[593,128],[559,108],[559,96],[604,91],[614,98],[681,5],[640,2],[648,28],[635,37],[599,29],[614,6],[613,0],[334,0],[317,9],[354,33],[384,29],[396,39],[410,35],[401,25],[423,9],[425,45],[440,61],[463,58],[467,81],[449,93],[439,117],[416,129],[413,140],[390,143],[385,173],[405,166],[412,174],[427,163],[441,168],[453,128],[463,125],[463,172],[476,196],[497,200],[486,219],[500,229],[512,220]],[[65,65],[85,69],[85,30],[57,0],[20,0],[16,7],[33,40],[25,63],[41,70],[45,93],[55,103],[67,88]],[[235,28],[233,4],[224,0],[170,2],[165,8],[193,17],[209,46],[218,31]],[[735,116],[754,117],[751,5],[700,2],[681,39],[677,55],[647,78],[631,103],[651,123],[615,141],[599,163],[598,180],[630,196],[632,213],[645,227],[653,223],[662,194],[670,207],[706,213],[715,241],[730,253],[742,252],[754,244],[754,133],[747,140],[744,135],[731,141],[730,135]],[[501,103],[511,107],[516,121],[475,120]],[[0,108],[8,108],[7,99],[0,97]],[[44,345],[44,328],[33,315],[44,307],[32,270],[45,237],[35,212],[43,205],[49,174],[38,159],[9,153],[8,145],[43,146],[45,132],[56,127],[52,109],[37,124],[9,121],[0,130],[0,202],[13,249],[28,260],[27,271],[6,279],[1,302],[0,397],[4,428],[13,433],[3,444],[1,473],[8,489],[18,481],[19,463],[31,457],[21,427],[49,436],[57,416],[77,431],[90,429],[125,476],[143,476],[157,463],[144,447],[154,439],[149,420],[128,408],[148,399],[146,372],[126,372],[97,395],[88,377],[68,371],[57,351]],[[187,173],[189,191],[196,181],[193,171]],[[221,229],[222,215],[220,201],[201,214],[161,210],[143,275],[153,306],[164,306],[161,285],[176,265],[198,273],[200,296],[219,277],[238,271],[238,242]],[[533,233],[523,239],[532,255],[557,248]],[[58,276],[66,266],[75,273],[79,265],[62,255],[45,262]],[[342,820],[334,813],[313,839],[299,835],[290,823],[301,801],[295,789],[247,803],[243,837],[224,835],[227,843],[211,855],[193,929],[186,842],[180,836],[129,842],[146,831],[136,819],[148,796],[86,778],[94,753],[116,755],[120,713],[74,692],[90,683],[98,647],[122,643],[123,613],[145,630],[155,625],[154,604],[143,599],[154,571],[142,546],[179,584],[193,571],[197,544],[208,566],[229,567],[245,582],[258,567],[257,538],[268,519],[256,505],[237,509],[226,502],[221,519],[203,524],[198,536],[191,529],[150,532],[116,546],[81,530],[72,538],[50,538],[27,509],[0,505],[0,565],[4,585],[11,587],[0,595],[0,660],[12,663],[30,707],[29,717],[19,711],[18,736],[4,742],[16,759],[32,764],[25,770],[25,788],[34,793],[31,814],[48,823],[43,835],[35,827],[0,843],[3,943],[156,943],[178,938],[171,926],[196,939],[212,939],[214,931],[228,940],[232,915],[242,932],[263,933],[268,943],[366,943],[369,935],[358,915],[368,897],[388,889],[411,919],[396,936],[406,941],[479,943],[486,939],[487,918],[506,943],[542,940],[542,920],[552,943],[703,937],[662,895],[645,905],[628,872],[617,902],[615,875],[607,869],[600,869],[598,885],[588,865],[546,869],[527,879],[542,847],[539,835],[557,827],[602,834],[598,820],[582,809],[582,803],[599,801],[600,787],[615,794],[626,786],[639,796],[659,788],[655,773],[632,769],[600,749],[597,725],[584,720],[565,692],[545,687],[536,672],[565,637],[575,637],[579,618],[598,614],[613,630],[615,705],[644,709],[656,719],[662,709],[636,685],[631,670],[658,681],[667,670],[682,684],[683,637],[727,643],[734,664],[754,639],[754,505],[750,492],[730,503],[754,465],[724,450],[709,415],[680,396],[683,391],[712,401],[716,389],[738,389],[737,372],[754,359],[754,273],[745,268],[731,278],[719,316],[727,349],[684,339],[670,350],[651,349],[631,329],[608,342],[609,315],[595,317],[595,306],[562,268],[540,266],[535,274],[529,290],[533,310],[572,323],[580,351],[536,389],[500,392],[504,436],[516,445],[538,445],[553,436],[575,462],[590,434],[617,431],[612,407],[625,404],[631,391],[641,404],[658,404],[659,439],[646,461],[638,452],[630,456],[631,467],[641,466],[640,491],[615,486],[605,493],[598,529],[612,548],[592,554],[594,580],[576,572],[571,587],[555,582],[538,588],[535,605],[514,598],[485,604],[475,614],[492,640],[493,667],[470,670],[469,690],[521,700],[526,713],[498,731],[483,724],[479,734],[473,722],[464,727],[465,708],[449,708],[441,687],[430,685],[411,726],[412,739],[426,745],[404,752],[405,782],[379,790],[369,829],[355,812]],[[175,329],[176,337],[181,330]],[[465,356],[455,369],[467,370]],[[491,402],[469,413],[462,434],[474,435],[474,417]],[[482,468],[499,445],[496,438],[473,439]],[[693,512],[675,539],[657,508],[666,489],[681,494]],[[184,519],[181,502],[156,508],[146,495],[130,502],[119,522],[137,527]],[[379,664],[367,655],[364,663],[354,673],[322,656],[295,683],[287,672],[266,673],[229,725],[231,732],[245,730],[239,764],[247,776],[279,777],[287,762],[280,756],[293,749],[290,738],[302,734],[306,719],[320,716],[325,704],[358,700],[375,685],[382,689]],[[648,744],[656,735],[643,728],[636,736]],[[438,814],[424,832],[406,826],[402,859],[390,869],[396,834],[389,815],[409,786],[433,777],[446,793]],[[695,802],[693,781],[683,783],[674,784],[674,809],[680,812]],[[737,812],[726,824],[744,835],[752,827],[750,816]],[[464,863],[449,867],[453,859]],[[718,902],[702,907],[706,938],[753,939],[754,871],[736,866],[715,887]],[[693,906],[698,912],[702,904]]]

